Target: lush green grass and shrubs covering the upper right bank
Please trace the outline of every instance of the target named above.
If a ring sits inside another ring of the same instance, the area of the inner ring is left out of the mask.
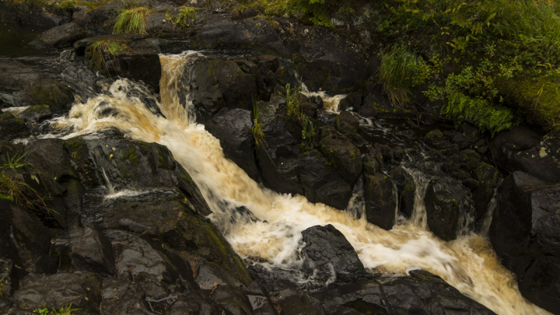
[[[383,43],[369,83],[380,84],[393,106],[440,100],[441,118],[482,131],[523,117],[560,132],[560,1],[245,0],[236,10],[336,29],[333,21],[351,25],[365,6]]]

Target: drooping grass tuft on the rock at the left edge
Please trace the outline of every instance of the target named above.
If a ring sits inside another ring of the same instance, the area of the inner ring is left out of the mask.
[[[8,161],[0,165],[0,198],[11,200],[28,209],[51,211],[45,202],[48,197],[41,196],[34,188],[25,183],[24,175],[18,174],[19,170],[38,174],[35,167],[27,162],[29,154],[31,152],[18,153],[12,157],[8,155]],[[38,175],[30,176],[31,180],[39,183]]]

